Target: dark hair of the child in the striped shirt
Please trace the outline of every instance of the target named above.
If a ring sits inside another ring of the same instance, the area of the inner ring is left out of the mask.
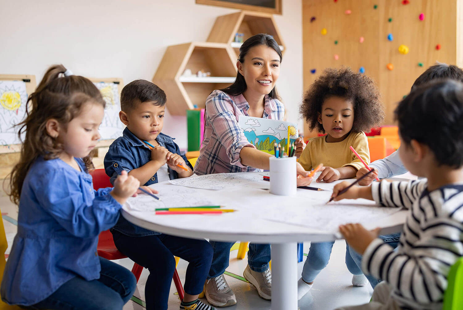
[[[463,165],[463,84],[445,79],[419,86],[394,111],[399,133],[408,145],[428,146],[439,165]]]

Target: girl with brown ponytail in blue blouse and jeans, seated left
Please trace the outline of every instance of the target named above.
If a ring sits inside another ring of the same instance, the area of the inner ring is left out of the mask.
[[[93,189],[89,153],[100,139],[105,101],[90,80],[62,65],[50,67],[29,101],[10,180],[18,233],[1,298],[29,309],[122,309],[136,280],[98,256],[98,235],[117,222],[140,182],[124,171],[114,188]]]

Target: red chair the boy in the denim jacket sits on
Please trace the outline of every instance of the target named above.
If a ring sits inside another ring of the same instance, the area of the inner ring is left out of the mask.
[[[113,187],[113,184],[109,182],[109,176],[106,175],[104,169],[95,169],[94,171],[90,172],[90,175],[93,179],[93,188],[96,190],[98,188],[106,188],[106,187]],[[98,237],[98,255],[107,260],[116,260],[121,258],[127,258],[124,254],[119,252],[119,250],[114,245],[113,241],[113,234],[107,231],[101,231],[100,236]],[[132,274],[135,275],[135,278],[140,279],[140,275],[142,274],[143,266],[138,265],[137,263],[133,264],[132,267]],[[177,273],[177,268],[175,268],[174,276],[172,277],[174,280],[175,288],[178,292],[178,297],[180,300],[183,300],[185,296],[185,291],[183,291],[183,286],[181,285],[180,277]]]

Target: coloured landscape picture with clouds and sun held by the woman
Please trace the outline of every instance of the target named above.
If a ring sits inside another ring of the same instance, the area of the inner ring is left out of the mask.
[[[275,143],[285,149],[289,141],[298,137],[297,125],[291,122],[271,120],[240,115],[238,125],[243,129],[244,136],[260,151],[275,155]]]

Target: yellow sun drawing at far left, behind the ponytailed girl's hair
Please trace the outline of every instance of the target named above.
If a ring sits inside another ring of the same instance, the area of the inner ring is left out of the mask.
[[[19,128],[26,115],[27,91],[23,81],[0,81],[0,144],[19,144]],[[24,138],[24,137],[23,137]]]

